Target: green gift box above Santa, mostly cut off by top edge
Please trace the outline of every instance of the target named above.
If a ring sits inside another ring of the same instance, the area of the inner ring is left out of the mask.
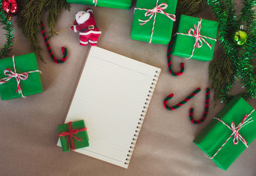
[[[132,0],[67,0],[67,3],[87,4],[91,6],[101,6],[108,8],[129,9],[131,8]]]

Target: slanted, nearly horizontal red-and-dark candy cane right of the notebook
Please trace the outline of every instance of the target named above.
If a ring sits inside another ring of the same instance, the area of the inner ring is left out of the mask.
[[[165,99],[164,99],[164,108],[166,108],[166,110],[176,110],[177,108],[179,108],[180,106],[188,103],[188,101],[193,98],[196,94],[198,94],[198,92],[200,92],[201,89],[198,87],[194,92],[192,92],[187,98],[185,98],[184,100],[180,101],[180,103],[178,103],[175,106],[168,106],[167,103],[170,99],[173,98],[174,94],[170,94],[168,95]]]

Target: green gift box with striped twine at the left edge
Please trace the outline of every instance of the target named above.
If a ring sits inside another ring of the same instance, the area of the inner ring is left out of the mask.
[[[13,57],[0,60],[0,94],[2,100],[43,92],[40,71],[34,53],[15,56],[14,64]],[[14,66],[19,77],[17,74],[15,76]],[[20,91],[18,90],[19,78]]]

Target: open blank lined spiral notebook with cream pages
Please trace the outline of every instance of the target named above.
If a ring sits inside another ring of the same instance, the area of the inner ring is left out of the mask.
[[[85,122],[90,146],[76,152],[127,168],[160,72],[92,47],[65,121]]]

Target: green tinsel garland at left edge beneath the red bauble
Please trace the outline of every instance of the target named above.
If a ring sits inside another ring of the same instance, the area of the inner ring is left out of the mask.
[[[4,25],[3,29],[6,31],[5,38],[6,41],[4,42],[3,46],[0,50],[0,59],[6,57],[10,54],[14,42],[14,34],[13,34],[13,24],[8,20],[7,15],[2,10],[2,1],[0,1],[0,25]]]

